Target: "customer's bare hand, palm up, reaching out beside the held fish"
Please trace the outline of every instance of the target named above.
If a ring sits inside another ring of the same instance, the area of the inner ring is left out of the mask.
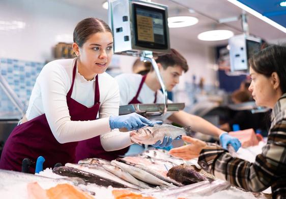
[[[182,140],[190,144],[171,149],[169,151],[170,155],[180,157],[185,160],[189,160],[198,157],[202,149],[204,149],[207,146],[207,143],[205,143],[204,141],[191,138],[189,136],[182,136]]]

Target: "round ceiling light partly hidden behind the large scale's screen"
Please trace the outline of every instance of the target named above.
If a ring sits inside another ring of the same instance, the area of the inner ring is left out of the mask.
[[[180,16],[180,17],[169,17],[168,26],[169,27],[186,27],[194,25],[198,22],[198,19],[195,17],[189,16]]]

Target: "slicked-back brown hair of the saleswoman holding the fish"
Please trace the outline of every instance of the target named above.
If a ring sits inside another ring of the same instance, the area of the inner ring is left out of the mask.
[[[73,42],[79,47],[89,39],[89,37],[97,32],[110,32],[110,27],[101,19],[86,18],[78,22],[73,31]]]

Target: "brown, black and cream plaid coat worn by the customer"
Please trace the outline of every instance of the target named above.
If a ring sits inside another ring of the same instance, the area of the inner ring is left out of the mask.
[[[286,198],[286,93],[272,110],[268,141],[250,163],[232,157],[218,145],[209,145],[198,158],[201,167],[232,185],[259,192],[271,186],[273,198]]]

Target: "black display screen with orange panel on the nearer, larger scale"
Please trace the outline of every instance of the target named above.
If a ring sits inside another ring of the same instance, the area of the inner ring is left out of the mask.
[[[165,10],[133,4],[135,45],[167,49]]]

